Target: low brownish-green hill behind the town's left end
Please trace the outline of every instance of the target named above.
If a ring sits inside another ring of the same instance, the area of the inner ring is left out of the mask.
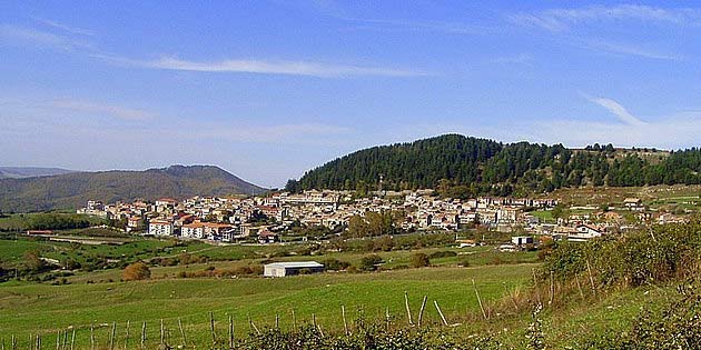
[[[169,197],[260,193],[264,189],[210,166],[172,166],[145,171],[73,172],[0,180],[0,211],[26,212],[85,207],[88,200],[134,201]]]

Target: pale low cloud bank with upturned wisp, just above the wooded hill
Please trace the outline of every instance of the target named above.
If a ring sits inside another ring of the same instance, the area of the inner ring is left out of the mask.
[[[407,124],[393,128],[391,141],[406,141],[447,132],[457,132],[504,142],[563,143],[567,147],[584,147],[599,142],[604,144],[613,143],[616,147],[654,147],[672,150],[701,144],[701,110],[669,113],[648,118],[648,120],[643,121],[612,99],[588,99],[605,108],[615,119],[609,118],[608,120],[595,121],[575,118],[541,119],[537,121],[513,119],[490,124],[446,124],[435,120],[426,124]],[[389,142],[387,141],[387,133],[378,134],[373,140],[381,143]]]

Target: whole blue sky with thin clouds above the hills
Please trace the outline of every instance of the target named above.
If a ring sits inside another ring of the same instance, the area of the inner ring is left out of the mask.
[[[0,164],[278,187],[446,132],[701,143],[692,2],[3,1]]]

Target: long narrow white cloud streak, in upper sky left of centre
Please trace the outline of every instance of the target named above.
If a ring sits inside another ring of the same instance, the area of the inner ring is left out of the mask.
[[[95,56],[105,60],[154,69],[198,71],[198,72],[228,72],[228,73],[260,73],[260,74],[288,74],[307,76],[318,78],[344,78],[354,76],[383,76],[383,77],[418,77],[427,76],[426,72],[403,70],[394,68],[327,64],[309,61],[267,61],[267,60],[223,60],[223,61],[188,61],[172,57],[164,57],[157,60],[132,60],[108,56]]]

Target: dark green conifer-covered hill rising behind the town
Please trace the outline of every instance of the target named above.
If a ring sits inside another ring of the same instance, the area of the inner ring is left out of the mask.
[[[436,188],[461,196],[525,194],[562,187],[701,183],[698,148],[665,152],[594,144],[504,144],[461,134],[379,146],[335,159],[290,180],[288,190]]]

